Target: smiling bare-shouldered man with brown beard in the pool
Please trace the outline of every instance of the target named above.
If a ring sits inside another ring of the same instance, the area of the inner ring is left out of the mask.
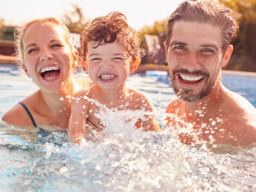
[[[231,10],[213,0],[184,1],[170,16],[164,47],[178,98],[167,106],[167,125],[187,127],[179,134],[185,144],[256,142],[255,107],[221,83],[237,29]]]

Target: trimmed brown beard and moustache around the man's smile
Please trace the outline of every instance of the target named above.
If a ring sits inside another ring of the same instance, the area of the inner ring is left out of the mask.
[[[193,95],[194,89],[185,89],[185,88],[177,88],[175,82],[178,81],[176,80],[178,78],[177,74],[190,74],[190,75],[202,75],[203,80],[205,81],[205,87],[202,89],[201,92],[199,92],[196,95]],[[185,69],[179,69],[173,71],[173,77],[170,78],[173,90],[176,93],[176,95],[179,97],[179,99],[188,101],[188,102],[194,102],[197,100],[202,99],[203,97],[207,96],[210,92],[211,89],[215,86],[217,75],[213,75],[211,79],[209,79],[210,74],[205,71],[188,71]]]

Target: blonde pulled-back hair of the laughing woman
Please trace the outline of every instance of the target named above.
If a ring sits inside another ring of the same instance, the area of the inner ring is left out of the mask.
[[[25,25],[21,27],[17,27],[14,31],[14,40],[16,44],[16,56],[18,57],[18,63],[22,64],[24,62],[24,47],[23,47],[23,37],[25,36],[25,33],[28,31],[28,28],[31,27],[31,25],[36,23],[54,23],[57,26],[60,26],[63,28],[63,34],[65,42],[68,44],[68,46],[71,48],[71,51],[74,51],[74,47],[71,42],[70,33],[68,31],[68,28],[63,24],[63,22],[60,22],[59,19],[56,19],[54,17],[45,17],[42,19],[33,19],[30,22],[25,23]]]

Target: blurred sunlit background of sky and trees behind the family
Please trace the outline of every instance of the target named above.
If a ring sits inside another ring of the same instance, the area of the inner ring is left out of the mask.
[[[167,19],[181,1],[0,0],[0,63],[15,63],[14,28],[31,19],[57,17],[73,33],[78,47],[79,34],[92,19],[119,10],[141,36],[141,47],[146,51],[141,67],[145,64],[159,65],[167,70],[163,45]],[[233,10],[240,26],[237,39],[232,42],[234,52],[225,69],[256,72],[256,0],[220,1]]]

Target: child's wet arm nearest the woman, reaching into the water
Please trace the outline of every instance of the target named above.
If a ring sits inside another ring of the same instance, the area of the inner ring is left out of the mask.
[[[68,121],[68,133],[72,141],[80,143],[86,136],[87,102],[81,99],[80,92],[74,95],[71,102],[71,115]],[[82,97],[83,98],[83,97]]]

